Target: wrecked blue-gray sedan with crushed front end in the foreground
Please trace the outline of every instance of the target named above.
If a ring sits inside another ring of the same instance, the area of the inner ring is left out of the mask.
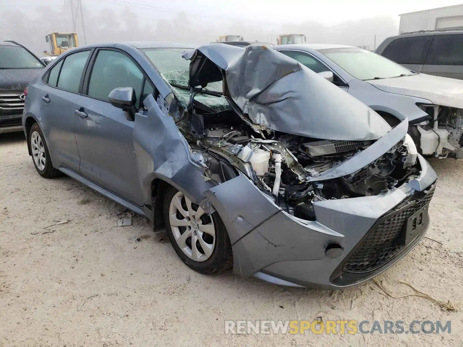
[[[189,49],[116,43],[56,59],[29,85],[23,114],[38,173],[65,173],[165,226],[200,273],[233,266],[341,288],[425,235],[437,177],[407,119],[391,130],[262,45]]]

